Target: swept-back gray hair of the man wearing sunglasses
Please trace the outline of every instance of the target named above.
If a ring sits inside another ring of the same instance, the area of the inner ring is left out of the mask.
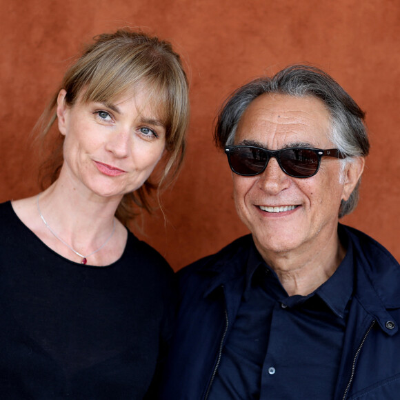
[[[352,157],[366,157],[370,150],[364,125],[365,113],[350,95],[326,72],[313,66],[289,66],[273,77],[261,77],[235,90],[223,104],[217,117],[214,140],[219,148],[233,143],[237,126],[250,103],[266,93],[288,94],[293,97],[316,97],[330,113],[330,140],[351,162]],[[359,183],[347,201],[341,201],[339,218],[357,206]]]

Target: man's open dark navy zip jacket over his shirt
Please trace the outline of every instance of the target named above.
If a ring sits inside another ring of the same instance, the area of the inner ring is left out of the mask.
[[[366,234],[339,229],[352,241],[355,283],[334,399],[400,399],[399,263]],[[179,272],[181,307],[160,399],[207,399],[241,301],[250,246],[252,237],[241,237]]]

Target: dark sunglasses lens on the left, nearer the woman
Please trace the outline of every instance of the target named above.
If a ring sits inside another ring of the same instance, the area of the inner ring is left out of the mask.
[[[241,175],[259,174],[267,163],[267,154],[262,149],[251,147],[232,148],[229,151],[230,167]]]

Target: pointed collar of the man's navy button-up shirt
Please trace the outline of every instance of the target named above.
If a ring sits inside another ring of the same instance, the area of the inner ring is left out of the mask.
[[[343,246],[347,248],[347,251],[343,261],[341,261],[337,270],[334,272],[334,274],[332,274],[332,277],[319,286],[319,288],[314,290],[314,292],[308,294],[308,296],[297,295],[286,297],[286,299],[279,299],[279,301],[286,303],[287,306],[293,306],[295,303],[303,303],[306,301],[306,299],[309,299],[314,294],[317,294],[326,303],[330,310],[334,312],[334,314],[337,314],[337,316],[343,318],[345,316],[348,301],[352,297],[354,268],[352,263],[352,243],[343,234],[341,234],[340,240]],[[278,280],[275,272],[265,261],[263,261],[261,254],[259,254],[254,243],[252,243],[246,268],[246,290],[251,289],[254,272],[256,272],[256,270],[259,268],[272,272],[272,275]]]

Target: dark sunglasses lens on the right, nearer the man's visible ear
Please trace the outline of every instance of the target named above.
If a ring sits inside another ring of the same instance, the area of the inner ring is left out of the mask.
[[[311,177],[318,170],[318,156],[312,150],[288,149],[279,156],[283,170],[293,177]]]

